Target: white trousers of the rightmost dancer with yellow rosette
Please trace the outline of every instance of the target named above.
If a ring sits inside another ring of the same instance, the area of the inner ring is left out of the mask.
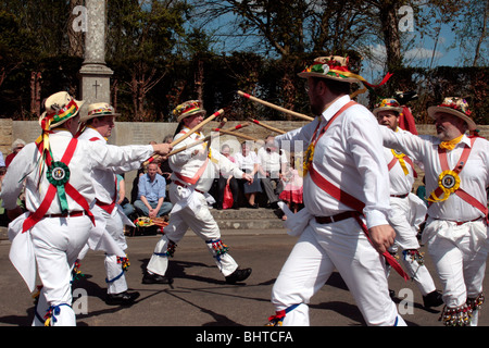
[[[484,221],[456,226],[453,222],[428,219],[423,238],[443,286],[447,307],[463,306],[467,298],[482,293],[487,236]]]

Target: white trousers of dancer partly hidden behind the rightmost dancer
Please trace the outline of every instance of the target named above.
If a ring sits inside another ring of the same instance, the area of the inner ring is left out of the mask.
[[[424,202],[421,201],[423,204]],[[412,213],[412,204],[409,198],[390,198],[391,211],[388,216],[389,224],[396,231],[396,243],[389,249],[392,253],[403,250],[417,250],[419,243],[417,241],[415,227],[415,216]],[[425,210],[426,214],[426,210]],[[423,214],[423,216],[425,215]],[[414,258],[405,254],[401,258],[402,264],[414,281],[423,296],[436,290],[435,282],[426,265],[419,264]]]

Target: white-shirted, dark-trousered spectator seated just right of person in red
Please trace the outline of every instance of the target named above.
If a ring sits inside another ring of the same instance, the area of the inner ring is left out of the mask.
[[[258,171],[260,169],[260,163],[258,156],[254,151],[251,151],[251,145],[248,141],[241,144],[241,152],[235,154],[236,163],[239,165],[240,170],[244,173],[253,175],[253,183],[250,184],[244,179],[238,179],[239,185],[248,200],[247,208],[258,209],[258,204],[254,202],[258,192],[262,191],[260,185],[260,178]]]

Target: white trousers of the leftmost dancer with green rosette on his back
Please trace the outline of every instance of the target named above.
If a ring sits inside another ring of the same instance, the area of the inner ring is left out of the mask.
[[[72,304],[72,269],[91,228],[88,216],[46,217],[30,231],[38,275],[42,283],[37,314],[43,318],[50,307],[57,307],[51,325],[76,325]],[[59,310],[59,311],[58,311]],[[33,325],[43,325],[35,318]]]

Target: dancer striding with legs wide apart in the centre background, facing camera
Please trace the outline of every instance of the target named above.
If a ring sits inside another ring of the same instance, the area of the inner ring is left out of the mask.
[[[174,138],[177,140],[202,122],[205,110],[201,108],[199,101],[190,100],[178,105],[174,110],[174,114],[177,116],[181,129]],[[175,150],[195,142],[199,138],[203,138],[202,133],[195,133],[176,145]],[[174,208],[170,213],[170,224],[164,227],[164,234],[158,241],[148,263],[142,283],[170,284],[173,282],[172,278],[165,276],[168,257],[173,256],[177,243],[189,227],[205,241],[227,283],[244,281],[251,274],[251,269],[239,269],[227,252],[228,248],[221,239],[220,227],[209,211],[205,195],[208,195],[214,177],[217,177],[218,172],[216,171],[218,170],[233,173],[235,177],[242,177],[249,182],[252,182],[252,177],[241,172],[235,163],[218,151],[211,153],[205,142],[171,156],[170,166],[173,173],[168,196]]]

